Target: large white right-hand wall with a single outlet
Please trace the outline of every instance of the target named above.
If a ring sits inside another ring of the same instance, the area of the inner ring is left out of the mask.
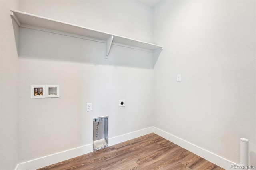
[[[255,1],[163,0],[153,13],[154,126],[237,164],[248,138],[255,166]]]

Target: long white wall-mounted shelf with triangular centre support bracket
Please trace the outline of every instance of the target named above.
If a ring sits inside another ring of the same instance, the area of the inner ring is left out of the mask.
[[[106,58],[108,58],[108,54],[110,52],[110,48],[113,43],[119,43],[119,44],[132,46],[140,49],[146,49],[146,50],[149,50],[152,52],[158,52],[158,53],[163,48],[159,45],[155,45],[152,43],[142,42],[142,41],[138,41],[138,40],[122,37],[122,36],[117,36],[114,34],[101,32],[101,31],[86,28],[83,26],[78,26],[78,25],[67,23],[67,22],[53,20],[50,18],[37,16],[34,14],[29,14],[29,13],[21,12],[17,10],[10,10],[10,15],[20,27],[31,28],[31,26],[33,26],[35,29],[43,28],[48,32],[58,31],[58,32],[64,32],[68,34],[74,34],[78,36],[84,36],[88,38],[101,40],[101,42],[103,41],[106,44]]]

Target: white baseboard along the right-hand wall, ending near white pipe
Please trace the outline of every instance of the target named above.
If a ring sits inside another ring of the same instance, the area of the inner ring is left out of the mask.
[[[208,150],[205,150],[203,148],[200,148],[199,146],[196,146],[190,142],[187,142],[181,138],[178,138],[177,136],[174,136],[168,132],[165,132],[163,130],[160,130],[159,128],[153,127],[153,132],[179,146],[182,148],[193,152],[194,154],[220,166],[221,168],[224,168],[225,170],[230,170],[231,165],[238,165],[234,162],[231,162],[225,158],[222,158],[212,152],[209,152]]]

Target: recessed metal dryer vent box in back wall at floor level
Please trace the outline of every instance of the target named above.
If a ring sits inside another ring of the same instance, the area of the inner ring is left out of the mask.
[[[108,146],[108,116],[93,119],[93,150]]]

